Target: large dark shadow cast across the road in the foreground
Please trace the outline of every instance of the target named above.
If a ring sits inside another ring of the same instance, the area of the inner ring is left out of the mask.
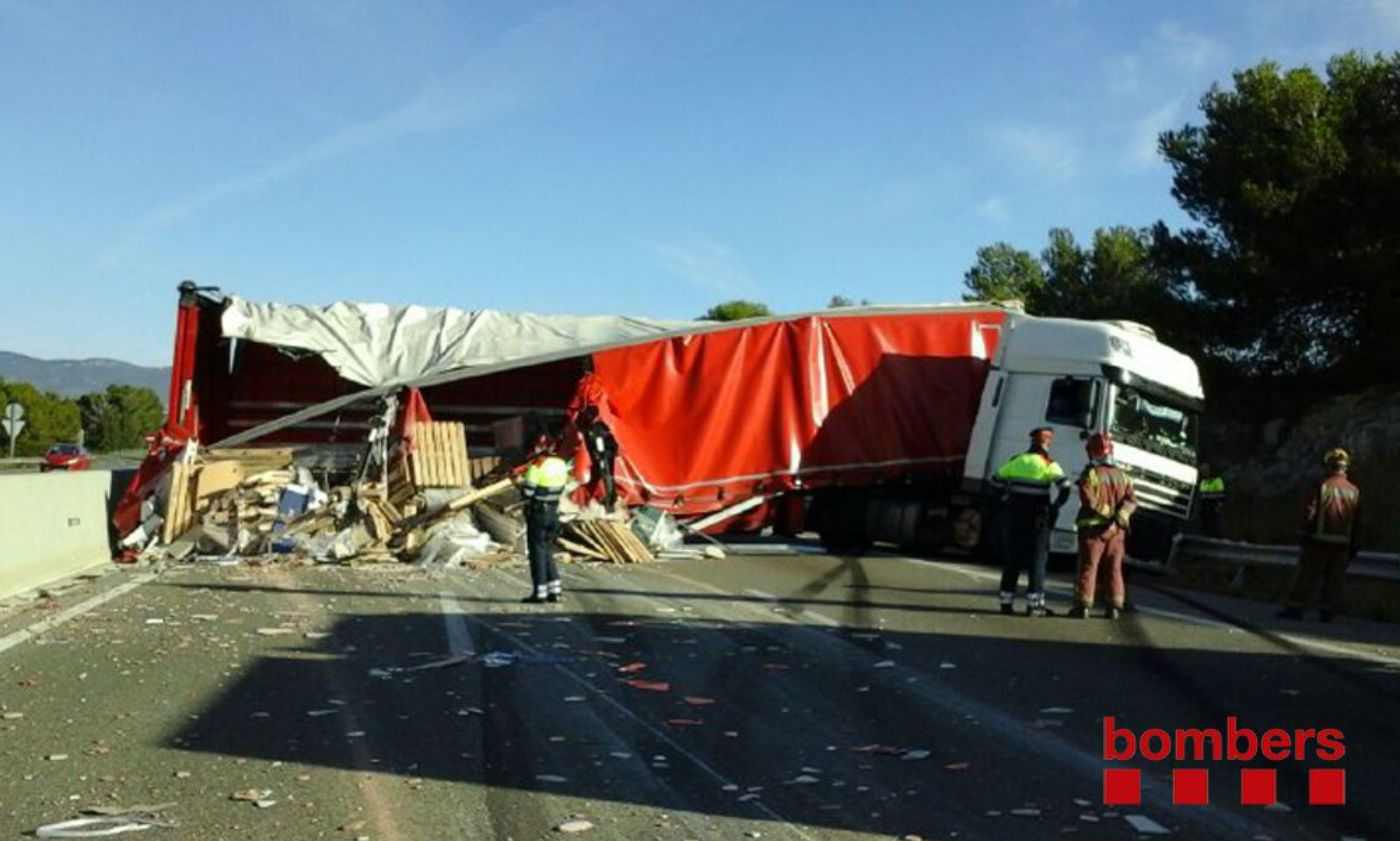
[[[451,653],[442,614],[350,616],[314,645],[269,651],[168,743],[865,833],[1051,838],[1078,826],[1085,809],[1072,798],[1099,807],[1103,715],[1135,729],[1238,715],[1260,730],[1344,730],[1354,806],[1301,806],[1292,824],[1382,837],[1393,817],[1394,695],[1348,683],[1323,691],[1295,658],[1170,649],[1144,660],[1133,646],[1008,634],[728,623],[641,602],[638,612],[668,613],[473,613],[477,602],[458,600],[473,652],[465,662],[412,670]],[[981,621],[1023,634],[1028,620]],[[1316,764],[1281,765],[1280,799],[1305,805]],[[1161,793],[1165,768],[1138,767]],[[1212,802],[1238,802],[1238,765],[1198,767],[1212,770]],[[1007,828],[986,814],[1025,807],[1042,819]],[[1238,813],[1170,817],[1224,831],[1211,821]]]

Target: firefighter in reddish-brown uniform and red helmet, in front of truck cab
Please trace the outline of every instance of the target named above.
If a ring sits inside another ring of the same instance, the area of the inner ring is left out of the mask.
[[[1123,554],[1128,521],[1137,508],[1133,480],[1113,463],[1113,439],[1105,432],[1089,435],[1085,442],[1089,463],[1079,474],[1079,574],[1074,586],[1070,616],[1085,619],[1093,610],[1099,575],[1107,584],[1106,619],[1117,619],[1127,599],[1123,586]]]

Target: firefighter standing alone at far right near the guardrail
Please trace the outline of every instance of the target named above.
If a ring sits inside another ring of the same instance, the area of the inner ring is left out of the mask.
[[[1344,449],[1330,449],[1323,456],[1327,477],[1309,494],[1303,508],[1298,571],[1280,612],[1282,619],[1302,619],[1303,609],[1322,579],[1322,621],[1341,612],[1341,591],[1347,564],[1361,550],[1361,490],[1347,479],[1351,456]]]

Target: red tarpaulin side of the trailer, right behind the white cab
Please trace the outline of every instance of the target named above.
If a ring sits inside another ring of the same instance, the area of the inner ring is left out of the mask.
[[[753,494],[958,474],[1005,312],[808,316],[594,354],[633,504],[676,514]]]

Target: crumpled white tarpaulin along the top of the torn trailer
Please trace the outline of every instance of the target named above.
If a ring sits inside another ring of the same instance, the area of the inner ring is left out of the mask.
[[[340,376],[367,386],[647,339],[687,326],[694,325],[617,315],[533,315],[349,301],[302,306],[237,297],[228,299],[223,316],[225,337],[321,354]]]

